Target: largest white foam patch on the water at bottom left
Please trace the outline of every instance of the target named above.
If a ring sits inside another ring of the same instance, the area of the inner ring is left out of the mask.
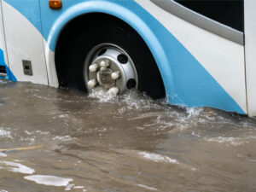
[[[26,180],[38,183],[38,184],[44,184],[44,185],[51,185],[56,187],[66,187],[69,182],[72,182],[72,178],[64,178],[64,177],[56,177],[56,176],[50,176],[50,175],[30,175],[24,177]]]

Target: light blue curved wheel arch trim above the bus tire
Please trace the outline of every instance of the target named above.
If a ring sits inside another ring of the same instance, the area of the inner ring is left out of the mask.
[[[137,6],[140,9],[143,9],[139,5]],[[145,10],[143,9],[143,11]],[[126,24],[131,26],[131,28],[133,28],[141,38],[143,38],[144,43],[148,46],[148,49],[153,55],[154,61],[157,63],[157,67],[160,71],[166,94],[170,92],[170,89],[174,89],[172,70],[170,65],[168,64],[166,52],[161,46],[157,35],[154,34],[154,32],[148,26],[148,23],[143,20],[143,18],[141,18],[141,16],[138,15],[134,10],[127,9],[123,5],[117,3],[105,1],[85,2],[78,3],[67,9],[55,20],[55,23],[49,30],[49,36],[47,39],[49,49],[55,51],[55,48],[61,36],[61,32],[67,29],[67,27],[73,22],[73,20],[76,20],[76,18],[81,15],[90,14],[112,15],[113,17],[118,18],[119,20],[122,20]],[[53,65],[55,65],[55,62],[53,63]],[[171,91],[174,92],[173,90]]]

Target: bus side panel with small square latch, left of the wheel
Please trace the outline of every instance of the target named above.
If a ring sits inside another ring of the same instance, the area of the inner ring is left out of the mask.
[[[48,84],[38,0],[4,0],[2,6],[10,70],[18,81]],[[24,73],[22,61],[31,61],[32,75]]]

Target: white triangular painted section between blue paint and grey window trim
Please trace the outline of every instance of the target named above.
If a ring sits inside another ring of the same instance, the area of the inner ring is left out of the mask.
[[[244,46],[194,26],[149,0],[135,1],[159,20],[247,112]]]

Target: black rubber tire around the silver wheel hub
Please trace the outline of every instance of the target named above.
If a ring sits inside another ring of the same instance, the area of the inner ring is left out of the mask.
[[[82,31],[82,32],[81,32]],[[104,21],[91,18],[90,26],[84,27],[70,38],[65,51],[66,75],[71,84],[79,90],[86,90],[84,83],[84,61],[90,49],[98,44],[115,44],[130,55],[137,69],[138,90],[153,98],[165,96],[165,89],[154,57],[143,39],[121,20],[106,15]],[[65,57],[65,55],[64,55]],[[63,58],[64,58],[63,57]]]

